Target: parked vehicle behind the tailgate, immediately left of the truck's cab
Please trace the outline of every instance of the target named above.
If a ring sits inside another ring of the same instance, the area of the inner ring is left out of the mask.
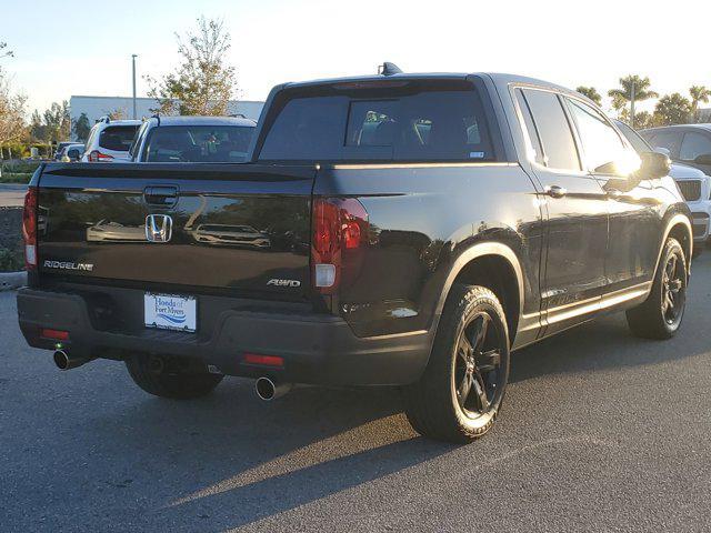
[[[129,150],[146,163],[238,163],[247,159],[257,122],[236,117],[153,117]]]

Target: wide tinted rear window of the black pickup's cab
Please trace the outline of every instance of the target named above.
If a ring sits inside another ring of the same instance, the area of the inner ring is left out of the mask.
[[[342,83],[286,90],[268,119],[260,161],[491,161],[469,82]]]

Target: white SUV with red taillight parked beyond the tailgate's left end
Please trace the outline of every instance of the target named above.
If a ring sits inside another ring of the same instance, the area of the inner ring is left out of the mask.
[[[81,160],[89,163],[129,161],[129,148],[140,125],[140,120],[100,119],[91,128]]]

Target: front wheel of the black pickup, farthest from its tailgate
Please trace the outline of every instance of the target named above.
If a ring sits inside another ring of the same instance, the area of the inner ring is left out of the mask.
[[[688,281],[684,250],[677,239],[670,237],[664,244],[649,298],[627,312],[627,323],[632,333],[643,339],[664,340],[674,336],[684,315]]]

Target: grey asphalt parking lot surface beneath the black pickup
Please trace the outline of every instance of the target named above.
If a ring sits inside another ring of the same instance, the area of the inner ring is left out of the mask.
[[[623,315],[517,353],[493,432],[417,436],[397,391],[304,388],[266,404],[148,396],[120,363],[60,373],[0,293],[0,530],[711,529],[711,253],[679,335]]]

